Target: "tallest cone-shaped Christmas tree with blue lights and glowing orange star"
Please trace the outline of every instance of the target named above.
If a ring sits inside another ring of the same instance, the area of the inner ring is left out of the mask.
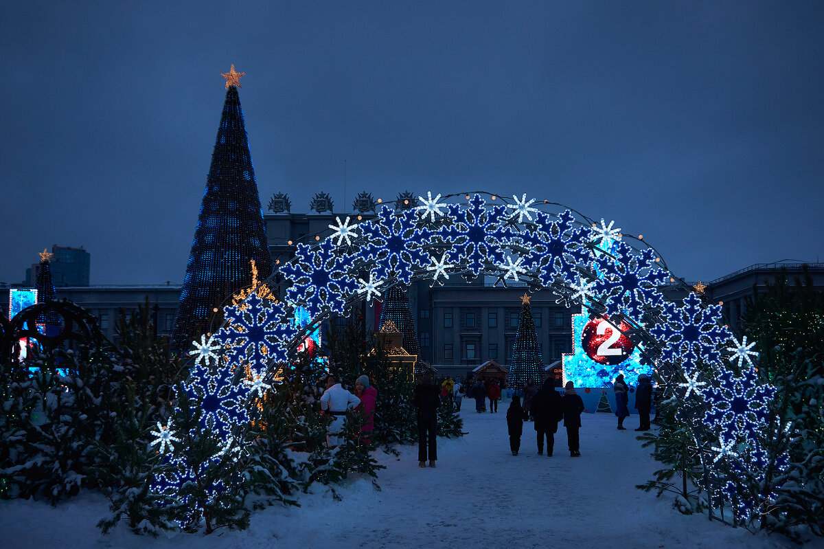
[[[194,336],[209,331],[213,307],[252,283],[251,260],[255,261],[259,279],[272,273],[272,256],[237,96],[243,74],[236,73],[234,65],[223,74],[226,102],[175,316],[171,349],[176,351],[184,350]]]

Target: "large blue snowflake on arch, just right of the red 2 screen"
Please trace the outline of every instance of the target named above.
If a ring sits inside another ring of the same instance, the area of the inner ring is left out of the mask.
[[[719,326],[721,307],[705,307],[695,293],[690,293],[681,301],[681,307],[664,303],[662,308],[662,321],[649,333],[667,343],[662,353],[665,359],[675,361],[682,357],[693,363],[705,360],[719,364],[718,346],[730,337],[729,331]]]

